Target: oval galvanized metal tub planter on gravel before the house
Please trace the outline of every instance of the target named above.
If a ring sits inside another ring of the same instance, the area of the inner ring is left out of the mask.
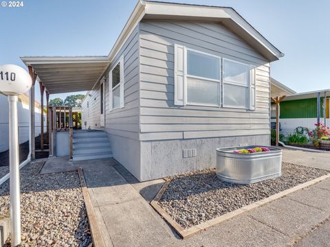
[[[235,153],[261,146],[232,147],[217,149],[217,176],[229,183],[251,184],[281,176],[282,150],[265,147],[270,151]]]

